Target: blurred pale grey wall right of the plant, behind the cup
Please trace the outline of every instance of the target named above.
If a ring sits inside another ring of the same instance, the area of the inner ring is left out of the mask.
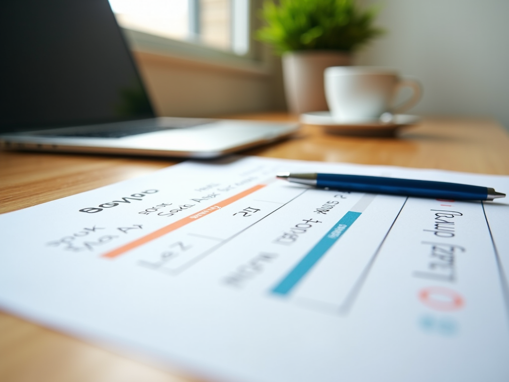
[[[418,77],[409,113],[481,116],[509,129],[509,0],[367,0],[387,33],[356,63]]]

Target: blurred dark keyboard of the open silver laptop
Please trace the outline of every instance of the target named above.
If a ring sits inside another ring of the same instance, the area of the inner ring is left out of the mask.
[[[163,126],[155,124],[146,124],[142,126],[122,126],[112,129],[110,126],[104,129],[98,129],[96,126],[89,129],[76,129],[75,131],[59,131],[58,133],[43,133],[38,135],[51,135],[53,137],[83,137],[83,138],[122,138],[129,137],[129,135],[145,134],[148,132],[164,131],[169,129],[181,129],[187,127],[200,126],[207,123],[214,122],[213,119],[195,119],[195,118],[174,118]]]

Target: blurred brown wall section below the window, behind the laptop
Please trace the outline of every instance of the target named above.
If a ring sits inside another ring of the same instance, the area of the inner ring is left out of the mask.
[[[216,117],[285,108],[282,78],[274,67],[250,73],[136,50],[134,58],[159,116]]]

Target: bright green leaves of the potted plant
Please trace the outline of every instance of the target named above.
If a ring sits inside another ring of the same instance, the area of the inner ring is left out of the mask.
[[[383,33],[373,26],[374,8],[360,10],[354,0],[266,0],[261,14],[266,25],[259,40],[278,53],[292,50],[353,51]]]

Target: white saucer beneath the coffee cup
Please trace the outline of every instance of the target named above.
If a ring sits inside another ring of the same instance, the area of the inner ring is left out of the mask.
[[[310,112],[300,115],[300,122],[308,125],[325,127],[328,132],[343,135],[370,135],[372,137],[388,137],[401,127],[415,125],[420,117],[408,114],[395,114],[390,122],[380,120],[340,123],[334,121],[330,112]]]

